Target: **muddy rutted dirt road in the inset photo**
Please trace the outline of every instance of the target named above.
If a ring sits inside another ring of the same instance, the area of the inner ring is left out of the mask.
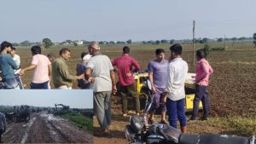
[[[67,119],[47,112],[32,113],[27,123],[9,123],[3,134],[4,143],[92,143],[92,140],[92,135]]]

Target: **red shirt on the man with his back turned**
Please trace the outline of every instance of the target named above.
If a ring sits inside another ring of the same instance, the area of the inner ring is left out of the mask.
[[[132,72],[138,72],[140,66],[130,55],[124,54],[112,61],[112,65],[118,68],[119,84],[121,86],[131,85],[134,82]],[[132,70],[134,66],[134,70]]]

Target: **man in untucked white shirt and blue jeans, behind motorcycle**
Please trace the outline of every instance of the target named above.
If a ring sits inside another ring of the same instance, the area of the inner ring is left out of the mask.
[[[187,122],[185,116],[185,78],[188,73],[188,64],[181,57],[182,46],[174,44],[170,48],[171,57],[167,71],[166,92],[164,101],[169,115],[169,123],[177,128],[177,118],[180,122],[181,131],[187,131]]]

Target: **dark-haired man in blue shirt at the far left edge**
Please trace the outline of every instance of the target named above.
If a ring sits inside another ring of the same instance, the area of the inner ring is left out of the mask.
[[[17,70],[19,67],[15,64],[15,60],[8,55],[12,47],[9,42],[1,43],[0,69],[2,70],[4,89],[20,89],[14,72],[14,69]]]

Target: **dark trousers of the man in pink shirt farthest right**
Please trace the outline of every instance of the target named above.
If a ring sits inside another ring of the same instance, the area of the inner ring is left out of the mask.
[[[209,115],[209,96],[208,96],[208,88],[204,85],[196,85],[195,86],[195,99],[193,101],[193,112],[190,119],[195,120],[198,109],[199,102],[201,101],[203,106],[203,117],[207,118]]]

